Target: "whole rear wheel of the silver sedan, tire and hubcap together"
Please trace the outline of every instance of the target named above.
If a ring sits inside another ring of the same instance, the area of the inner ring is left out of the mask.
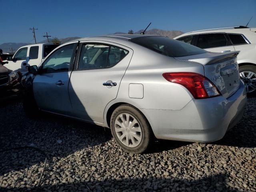
[[[152,130],[146,117],[133,106],[124,104],[111,116],[111,132],[119,146],[129,153],[145,152],[152,140]]]

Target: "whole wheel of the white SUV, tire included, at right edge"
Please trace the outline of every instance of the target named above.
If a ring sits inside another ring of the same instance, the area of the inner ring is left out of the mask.
[[[244,65],[239,67],[240,78],[244,82],[247,93],[256,90],[256,66]]]

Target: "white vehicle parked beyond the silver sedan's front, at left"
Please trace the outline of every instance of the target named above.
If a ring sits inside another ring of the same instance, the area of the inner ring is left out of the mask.
[[[59,43],[42,43],[23,46],[4,66],[13,71],[26,71],[27,66],[38,66],[59,45]]]

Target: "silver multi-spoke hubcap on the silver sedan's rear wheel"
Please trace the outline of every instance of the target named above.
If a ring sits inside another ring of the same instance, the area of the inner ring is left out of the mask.
[[[140,124],[134,116],[128,113],[118,115],[115,120],[115,132],[118,139],[128,147],[136,147],[142,140]]]

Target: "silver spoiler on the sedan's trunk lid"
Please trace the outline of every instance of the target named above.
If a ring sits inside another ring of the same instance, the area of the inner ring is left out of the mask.
[[[230,60],[231,58],[236,57],[239,54],[240,51],[232,51],[232,52],[225,52],[225,53],[212,53],[216,55],[209,55],[205,58],[195,58],[195,59],[189,59],[189,61],[198,62],[203,65],[210,65],[213,63],[223,62],[226,60]],[[211,53],[210,53],[211,54]]]

